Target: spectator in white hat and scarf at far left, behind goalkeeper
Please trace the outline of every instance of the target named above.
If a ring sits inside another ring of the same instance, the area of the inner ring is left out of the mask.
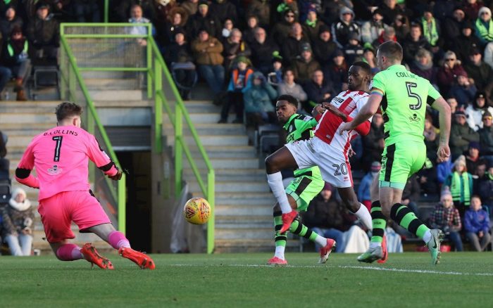
[[[32,222],[35,211],[21,188],[16,188],[8,205],[2,211],[2,238],[8,244],[11,255],[29,256],[32,249]]]

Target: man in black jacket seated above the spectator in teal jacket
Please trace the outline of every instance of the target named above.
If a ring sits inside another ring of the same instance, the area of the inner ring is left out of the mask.
[[[255,28],[255,39],[250,45],[251,63],[254,68],[261,71],[263,74],[268,74],[271,67],[273,53],[279,55],[279,46],[275,44],[273,39],[267,37],[266,30],[262,27]],[[282,57],[281,57],[282,60]]]

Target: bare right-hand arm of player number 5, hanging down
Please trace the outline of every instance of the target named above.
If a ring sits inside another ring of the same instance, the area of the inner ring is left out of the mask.
[[[428,96],[428,98],[436,97],[436,94],[438,93],[434,88],[430,89],[430,92],[432,93],[429,94],[430,96]],[[433,94],[435,95],[431,96]],[[450,121],[451,121],[450,106],[442,96],[436,98],[435,101],[431,104],[431,106],[433,109],[438,110],[439,113],[440,139],[439,139],[437,156],[440,161],[443,161],[444,158],[448,158],[450,156],[450,148],[449,148]]]

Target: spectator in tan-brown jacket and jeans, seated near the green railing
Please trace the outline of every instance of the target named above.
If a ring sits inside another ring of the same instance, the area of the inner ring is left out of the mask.
[[[199,8],[200,9],[200,8]],[[216,37],[209,36],[206,29],[199,31],[199,37],[192,41],[192,53],[199,65],[200,75],[217,96],[224,84],[223,44]]]

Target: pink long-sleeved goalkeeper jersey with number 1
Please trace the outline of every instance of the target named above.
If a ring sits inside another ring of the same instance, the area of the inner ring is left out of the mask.
[[[89,160],[105,174],[113,176],[118,172],[92,134],[75,126],[54,127],[35,136],[19,162],[18,169],[35,167],[37,178],[30,174],[25,179],[15,179],[39,187],[39,200],[63,191],[89,191]]]

